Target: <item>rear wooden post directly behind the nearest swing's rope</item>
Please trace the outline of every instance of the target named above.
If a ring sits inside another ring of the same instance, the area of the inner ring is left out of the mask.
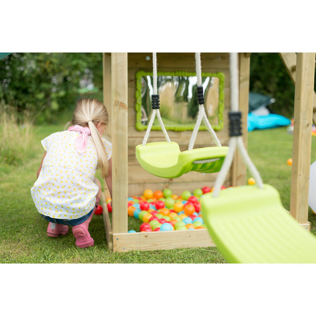
[[[249,109],[249,77],[250,77],[250,54],[239,53],[239,110],[242,120],[242,138],[247,148],[248,130],[247,116]],[[232,164],[232,185],[246,184],[246,165],[237,151]]]

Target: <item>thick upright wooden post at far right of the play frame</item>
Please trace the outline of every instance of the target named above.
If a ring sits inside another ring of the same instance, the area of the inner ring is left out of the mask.
[[[301,224],[308,219],[314,62],[315,53],[297,53],[290,213]]]

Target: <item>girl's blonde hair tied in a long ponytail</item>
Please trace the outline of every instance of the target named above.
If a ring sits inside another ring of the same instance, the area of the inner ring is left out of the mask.
[[[76,102],[74,115],[71,125],[80,125],[82,127],[89,127],[91,137],[98,154],[98,167],[100,167],[102,178],[106,178],[109,173],[109,163],[107,160],[106,151],[100,137],[100,134],[94,125],[102,122],[108,124],[109,116],[105,105],[97,99],[82,98]]]

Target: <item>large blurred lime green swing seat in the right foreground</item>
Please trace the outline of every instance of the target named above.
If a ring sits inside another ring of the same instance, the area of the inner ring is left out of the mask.
[[[272,186],[212,194],[201,198],[202,216],[229,263],[316,263],[316,238],[283,208]]]

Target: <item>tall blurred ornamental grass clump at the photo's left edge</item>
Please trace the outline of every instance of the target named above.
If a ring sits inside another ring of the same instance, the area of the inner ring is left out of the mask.
[[[4,165],[19,166],[31,155],[33,122],[30,111],[0,100],[0,170]]]

